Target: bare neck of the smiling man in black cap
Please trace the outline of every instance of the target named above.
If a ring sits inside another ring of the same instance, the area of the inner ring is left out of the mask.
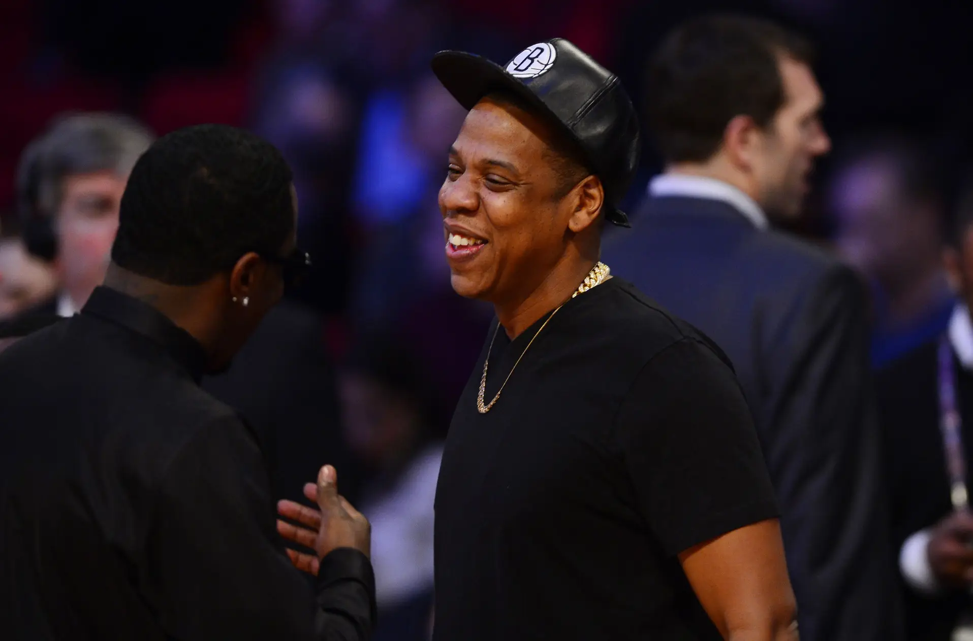
[[[527,295],[516,295],[509,301],[493,303],[496,318],[507,336],[514,340],[524,329],[570,299],[596,261],[596,258],[578,255],[565,256]]]

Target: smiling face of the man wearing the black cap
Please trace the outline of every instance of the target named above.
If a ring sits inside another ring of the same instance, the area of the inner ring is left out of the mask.
[[[494,304],[524,297],[563,258],[581,188],[563,188],[552,134],[541,119],[493,98],[464,120],[439,192],[460,295]]]

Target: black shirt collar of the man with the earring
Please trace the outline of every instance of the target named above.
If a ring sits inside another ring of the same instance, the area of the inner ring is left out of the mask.
[[[206,366],[206,354],[199,342],[162,312],[117,289],[96,287],[82,314],[108,320],[158,343],[199,383]]]

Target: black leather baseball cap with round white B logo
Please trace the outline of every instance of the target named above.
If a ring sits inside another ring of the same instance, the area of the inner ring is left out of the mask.
[[[605,217],[630,226],[618,209],[638,165],[638,118],[615,74],[563,38],[531,45],[501,67],[482,55],[440,51],[432,70],[465,109],[494,91],[514,93],[554,122],[584,154],[605,189]]]

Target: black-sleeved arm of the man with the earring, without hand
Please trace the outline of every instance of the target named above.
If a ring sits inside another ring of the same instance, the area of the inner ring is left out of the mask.
[[[376,606],[368,557],[334,550],[320,559],[316,594],[309,589],[284,554],[262,455],[238,420],[208,425],[183,447],[154,507],[139,582],[169,636],[351,641],[370,634]]]

